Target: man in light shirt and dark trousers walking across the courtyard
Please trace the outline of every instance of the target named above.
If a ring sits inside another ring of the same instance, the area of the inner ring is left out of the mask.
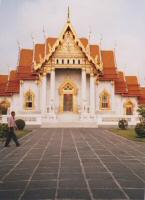
[[[8,118],[8,134],[7,134],[7,138],[6,138],[6,143],[5,143],[5,147],[9,146],[9,143],[11,141],[11,139],[14,140],[16,146],[20,146],[17,136],[15,134],[15,128],[17,128],[16,123],[15,123],[15,112],[12,111],[11,112],[11,116]]]

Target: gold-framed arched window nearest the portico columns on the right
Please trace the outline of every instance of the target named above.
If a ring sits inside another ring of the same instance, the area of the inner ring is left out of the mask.
[[[106,91],[103,91],[100,95],[100,109],[110,109],[110,94]]]

